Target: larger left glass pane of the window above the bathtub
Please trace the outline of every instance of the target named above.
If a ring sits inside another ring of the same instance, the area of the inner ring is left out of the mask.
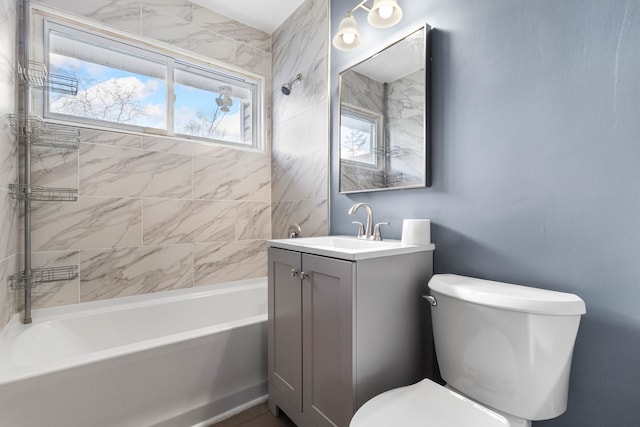
[[[78,79],[77,95],[50,92],[49,111],[140,127],[167,128],[166,65],[95,43],[86,34],[49,32],[50,72]],[[86,40],[86,41],[85,41]]]

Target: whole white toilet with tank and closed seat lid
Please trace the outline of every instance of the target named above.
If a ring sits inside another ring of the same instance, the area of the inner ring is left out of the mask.
[[[447,385],[384,392],[350,427],[530,427],[567,409],[580,297],[455,274],[434,275],[429,289]]]

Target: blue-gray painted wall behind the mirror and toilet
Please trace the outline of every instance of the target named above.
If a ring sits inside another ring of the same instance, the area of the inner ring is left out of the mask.
[[[332,34],[353,0],[332,0]],[[640,425],[640,1],[402,0],[402,22],[331,54],[337,73],[425,21],[433,39],[433,187],[340,195],[346,212],[431,218],[435,271],[574,292],[587,303],[569,409],[536,426]],[[336,147],[332,144],[332,147]]]

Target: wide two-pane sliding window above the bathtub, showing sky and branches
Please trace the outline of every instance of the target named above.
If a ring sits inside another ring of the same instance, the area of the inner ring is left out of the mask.
[[[49,70],[78,80],[48,93],[47,118],[261,146],[261,79],[49,20],[44,34]]]

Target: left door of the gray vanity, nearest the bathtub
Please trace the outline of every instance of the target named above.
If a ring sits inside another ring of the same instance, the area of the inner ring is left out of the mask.
[[[269,248],[269,386],[302,411],[299,252]]]

